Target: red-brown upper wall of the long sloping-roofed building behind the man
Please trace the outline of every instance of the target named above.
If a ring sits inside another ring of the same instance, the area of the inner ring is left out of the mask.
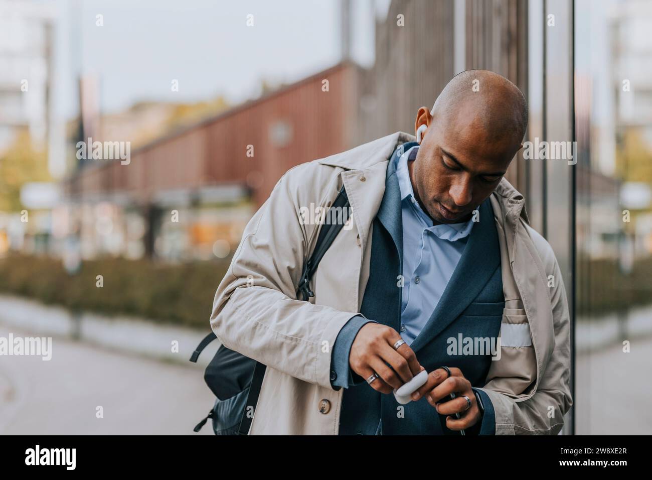
[[[167,190],[235,184],[262,204],[289,168],[355,146],[361,74],[340,63],[160,138],[132,152],[129,165],[98,160],[76,172],[67,191],[71,199],[126,194],[147,204]]]

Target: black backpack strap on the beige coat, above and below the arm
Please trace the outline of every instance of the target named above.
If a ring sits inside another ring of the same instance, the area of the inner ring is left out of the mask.
[[[324,223],[324,225],[322,225],[319,236],[317,237],[315,249],[310,256],[310,259],[308,259],[306,264],[303,266],[303,274],[301,274],[301,280],[299,281],[297,295],[298,293],[301,293],[303,300],[306,300],[306,302],[308,301],[308,298],[315,296],[314,292],[310,290],[309,285],[312,275],[314,274],[315,270],[317,270],[317,266],[319,265],[319,262],[321,261],[326,251],[329,249],[331,244],[333,244],[333,240],[335,240],[337,234],[340,232],[340,230],[342,230],[342,227],[344,227],[344,223],[346,223],[346,221],[349,219],[349,198],[346,196],[344,185],[342,185],[340,193],[338,193],[337,198],[333,202],[333,205],[331,205],[331,208],[338,207],[340,207],[340,210],[336,210],[336,212],[341,211],[342,216],[337,217],[335,223]],[[331,220],[333,219],[333,217],[328,215],[328,212],[325,218],[329,218]],[[265,365],[261,364],[260,362],[256,362],[256,366],[254,367],[254,375],[252,376],[249,392],[247,394],[246,405],[244,406],[243,418],[240,421],[240,426],[238,428],[239,435],[247,435],[249,433],[249,428],[251,426],[252,420],[254,419],[254,415],[248,415],[248,411],[252,411],[254,413],[256,411],[256,404],[258,404],[258,396],[263,385],[263,377],[265,377],[266,369],[267,367]]]

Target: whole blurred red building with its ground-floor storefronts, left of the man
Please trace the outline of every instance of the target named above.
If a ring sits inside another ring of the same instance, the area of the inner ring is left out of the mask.
[[[82,258],[228,256],[286,170],[356,145],[361,76],[344,61],[140,146],[128,164],[80,162],[57,211],[61,235],[78,236]]]

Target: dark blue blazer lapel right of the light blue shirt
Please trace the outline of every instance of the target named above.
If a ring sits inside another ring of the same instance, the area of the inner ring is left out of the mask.
[[[410,345],[417,351],[451,325],[475,299],[500,263],[499,244],[490,200],[480,205],[480,221],[473,225],[448,285],[434,312]]]

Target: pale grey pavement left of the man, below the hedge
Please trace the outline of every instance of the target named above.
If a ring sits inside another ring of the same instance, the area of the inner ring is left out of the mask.
[[[33,336],[0,324],[0,336]],[[53,338],[52,359],[0,357],[0,434],[192,434],[215,397],[203,368]],[[96,407],[104,418],[96,418]],[[213,434],[207,423],[200,434]]]

